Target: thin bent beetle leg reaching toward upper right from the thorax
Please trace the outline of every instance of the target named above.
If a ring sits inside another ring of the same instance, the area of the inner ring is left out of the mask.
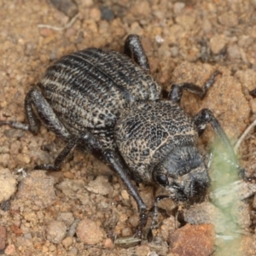
[[[189,92],[200,96],[201,99],[207,95],[207,91],[212,87],[215,82],[215,77],[221,74],[218,70],[215,71],[211,78],[207,80],[206,84],[201,88],[196,84],[182,83],[182,84],[172,84],[171,91],[168,95],[168,99],[172,102],[179,103],[181,97],[183,96],[183,90],[188,90]]]

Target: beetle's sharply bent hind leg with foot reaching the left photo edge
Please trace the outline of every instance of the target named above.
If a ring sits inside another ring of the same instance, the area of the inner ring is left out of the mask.
[[[38,115],[35,113],[33,108],[36,110]],[[33,134],[37,134],[40,129],[40,119],[42,119],[44,121],[44,125],[49,128],[50,131],[54,131],[55,134],[58,137],[61,137],[64,141],[70,140],[70,133],[64,125],[61,124],[61,121],[49,106],[49,103],[44,99],[44,96],[38,87],[33,87],[26,94],[25,110],[28,124],[22,124],[15,121],[0,121],[0,125],[9,125],[16,129],[31,131]]]

